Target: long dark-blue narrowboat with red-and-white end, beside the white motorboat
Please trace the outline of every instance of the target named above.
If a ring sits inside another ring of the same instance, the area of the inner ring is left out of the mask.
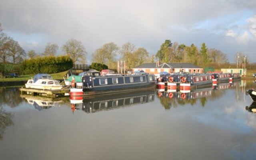
[[[126,90],[156,88],[154,74],[115,75],[115,76],[83,76],[82,83],[70,89],[72,96],[89,96],[105,93],[120,93]],[[79,94],[73,94],[78,92]]]

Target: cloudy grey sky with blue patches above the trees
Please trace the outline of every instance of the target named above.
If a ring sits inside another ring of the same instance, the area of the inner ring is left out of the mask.
[[[26,51],[80,40],[89,62],[108,42],[156,54],[166,39],[205,42],[230,62],[238,51],[256,62],[256,0],[0,0],[0,22]]]

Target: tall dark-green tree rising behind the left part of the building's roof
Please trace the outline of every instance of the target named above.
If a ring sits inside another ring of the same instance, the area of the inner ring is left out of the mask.
[[[172,47],[171,40],[165,40],[165,42],[161,45],[160,50],[156,53],[156,58],[159,59],[160,62],[170,62],[170,48]]]

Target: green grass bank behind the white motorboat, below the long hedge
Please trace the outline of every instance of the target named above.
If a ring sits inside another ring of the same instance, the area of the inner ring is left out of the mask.
[[[63,79],[63,77],[65,76],[65,74],[68,71],[64,71],[64,72],[60,72],[60,73],[54,73],[54,74],[50,74],[52,76],[53,79]],[[20,80],[29,80],[31,78],[34,77],[34,74],[27,74],[27,75],[20,75],[17,78],[0,78],[0,82],[8,82],[8,81],[20,81]]]

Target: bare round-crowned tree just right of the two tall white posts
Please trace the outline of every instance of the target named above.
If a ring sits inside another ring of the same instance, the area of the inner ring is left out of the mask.
[[[135,50],[136,50],[135,45],[131,44],[130,42],[123,44],[120,50],[122,59],[125,60],[125,63],[128,69],[133,67],[132,64],[134,64],[134,61],[133,61],[132,54]]]

